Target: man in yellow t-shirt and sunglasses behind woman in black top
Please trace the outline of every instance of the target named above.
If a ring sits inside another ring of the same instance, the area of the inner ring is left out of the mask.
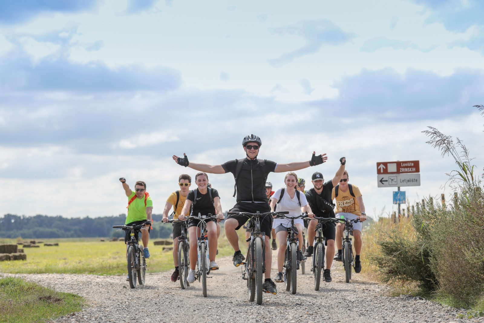
[[[190,185],[192,185],[192,178],[190,175],[181,174],[178,178],[178,185],[180,189],[175,191],[168,196],[166,199],[165,209],[163,210],[163,222],[168,222],[168,212],[170,212],[171,207],[173,207],[173,218],[178,219],[181,214],[181,210],[185,205],[186,196],[190,191]],[[177,203],[178,200],[178,203]],[[178,272],[178,237],[181,236],[181,226],[180,222],[173,222],[173,262],[175,263],[175,271],[171,275],[171,281],[177,281]]]

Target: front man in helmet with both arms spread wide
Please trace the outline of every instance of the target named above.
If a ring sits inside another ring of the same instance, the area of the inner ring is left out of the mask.
[[[269,203],[265,194],[265,183],[270,172],[288,172],[292,170],[304,169],[309,166],[320,165],[328,159],[326,154],[313,156],[309,161],[295,162],[288,164],[277,164],[267,159],[258,159],[259,148],[262,140],[250,135],[242,139],[242,148],[246,157],[244,159],[235,159],[227,161],[222,165],[198,164],[188,161],[186,154],[184,157],[173,156],[175,162],[179,165],[214,174],[225,174],[231,172],[235,178],[234,196],[237,194],[237,203],[230,212],[248,212],[260,213],[270,212]],[[239,230],[247,222],[247,217],[243,215],[228,215],[225,220],[225,233],[230,245],[234,248],[233,263],[234,266],[240,266],[245,257],[242,255],[239,247],[239,236],[236,230]],[[271,237],[272,217],[265,216],[261,219],[261,231],[265,233],[265,282],[262,285],[264,292],[272,294],[277,293],[275,283],[271,279],[271,262],[272,252],[269,239]]]

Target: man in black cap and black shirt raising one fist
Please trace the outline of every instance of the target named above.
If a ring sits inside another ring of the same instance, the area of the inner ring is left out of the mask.
[[[345,164],[346,158],[341,157],[339,159],[340,167],[336,171],[333,179],[324,183],[323,174],[320,172],[315,172],[311,177],[313,182],[313,188],[306,191],[306,199],[311,206],[311,210],[313,210],[314,214],[317,217],[335,217],[334,215],[334,205],[333,199],[331,198],[331,193],[333,187],[338,185],[339,180],[343,176],[343,172],[345,171]],[[308,234],[308,248],[304,256],[311,257],[313,255],[313,244],[314,244],[314,237],[316,235],[316,225],[318,224],[317,220],[311,220],[308,224],[307,234]],[[331,282],[331,265],[333,264],[333,257],[334,257],[334,239],[335,239],[336,229],[334,228],[334,224],[330,222],[323,223],[323,237],[326,239],[325,245],[326,248],[326,269],[323,272],[323,278],[326,282]],[[341,238],[340,238],[341,239]]]

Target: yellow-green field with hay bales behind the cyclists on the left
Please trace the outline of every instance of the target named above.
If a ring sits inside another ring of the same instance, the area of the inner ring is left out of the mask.
[[[239,234],[242,237],[245,231],[239,230]],[[42,239],[44,242],[58,242],[59,246],[40,244],[39,248],[25,248],[26,261],[0,261],[0,272],[12,274],[126,274],[124,242],[101,242],[100,239]],[[156,273],[174,269],[172,251],[162,252],[163,246],[154,246],[153,241],[155,240],[150,240],[149,243],[151,257],[147,260],[148,270]],[[15,244],[16,242],[15,239],[0,239],[0,244]],[[242,244],[241,239],[241,246]],[[218,250],[217,257],[233,254],[233,249],[228,244],[223,231],[219,238]]]

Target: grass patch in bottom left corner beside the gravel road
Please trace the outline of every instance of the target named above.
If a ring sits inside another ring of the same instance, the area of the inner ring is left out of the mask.
[[[20,278],[0,278],[1,322],[44,322],[78,312],[84,304],[75,294],[55,292]]]

